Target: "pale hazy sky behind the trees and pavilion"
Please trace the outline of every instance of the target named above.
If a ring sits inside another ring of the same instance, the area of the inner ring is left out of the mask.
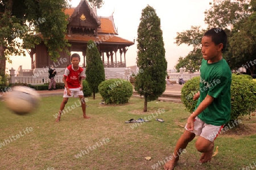
[[[72,0],[73,7],[79,5],[80,0]],[[126,53],[126,66],[136,65],[137,58],[137,29],[140,23],[142,10],[147,5],[153,7],[156,15],[161,20],[161,29],[163,31],[164,48],[166,50],[167,69],[174,69],[179,57],[185,57],[192,50],[192,46],[177,46],[175,37],[177,32],[183,32],[191,29],[191,26],[201,26],[206,28],[204,22],[204,11],[210,8],[209,2],[212,0],[104,0],[104,5],[97,10],[98,16],[110,16],[113,14],[115,27],[118,29],[118,36],[133,41]],[[168,2],[168,3],[167,3]],[[114,13],[113,13],[114,12]],[[6,63],[7,70],[31,69],[31,58],[29,55],[12,56],[13,63]]]

